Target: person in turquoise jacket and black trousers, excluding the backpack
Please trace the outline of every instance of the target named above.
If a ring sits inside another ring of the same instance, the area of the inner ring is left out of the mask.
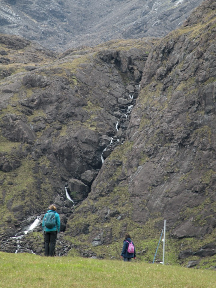
[[[47,228],[44,225],[45,217],[48,213],[55,213],[55,226],[53,228]],[[42,222],[43,233],[44,233],[44,255],[54,256],[55,254],[55,243],[57,239],[57,234],[60,231],[60,217],[56,212],[56,207],[54,205],[49,206],[49,210],[44,215]]]

